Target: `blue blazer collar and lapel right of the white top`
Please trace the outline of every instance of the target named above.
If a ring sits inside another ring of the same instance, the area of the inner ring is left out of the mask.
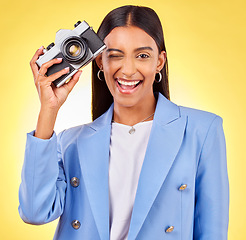
[[[159,94],[145,159],[138,182],[128,240],[136,239],[182,144],[186,117]]]

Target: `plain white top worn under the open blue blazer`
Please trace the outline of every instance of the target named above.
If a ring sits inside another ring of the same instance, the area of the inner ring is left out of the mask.
[[[112,123],[109,157],[110,240],[126,240],[153,121],[131,126]]]

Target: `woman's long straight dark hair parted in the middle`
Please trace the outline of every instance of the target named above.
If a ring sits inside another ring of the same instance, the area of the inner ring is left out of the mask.
[[[166,52],[163,30],[160,19],[156,12],[148,7],[122,6],[109,12],[102,21],[98,36],[104,38],[116,27],[136,26],[149,34],[156,42],[159,53]],[[96,61],[92,62],[92,119],[95,120],[105,113],[113,103],[113,97],[108,90],[105,81],[100,81],[97,77],[99,67]],[[153,91],[162,93],[167,99],[169,96],[168,85],[168,63],[167,59],[161,70],[162,80],[160,83],[154,82]]]

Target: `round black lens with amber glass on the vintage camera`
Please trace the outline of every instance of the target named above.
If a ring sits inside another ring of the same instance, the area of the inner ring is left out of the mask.
[[[61,52],[69,62],[80,63],[86,58],[88,47],[83,39],[69,37],[62,43]]]

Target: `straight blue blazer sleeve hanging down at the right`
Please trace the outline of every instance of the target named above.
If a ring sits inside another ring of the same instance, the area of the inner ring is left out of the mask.
[[[229,183],[222,119],[215,117],[197,168],[194,240],[227,239]]]

